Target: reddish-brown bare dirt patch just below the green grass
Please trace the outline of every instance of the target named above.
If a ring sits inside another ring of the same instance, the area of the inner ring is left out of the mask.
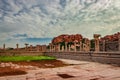
[[[62,61],[59,60],[20,61],[20,62],[4,62],[4,63],[12,63],[14,65],[17,65],[18,68],[14,68],[11,66],[0,67],[0,76],[27,74],[26,70],[36,67],[55,68],[55,67],[67,66],[67,64],[64,64]],[[0,62],[0,64],[3,64],[3,62]]]

